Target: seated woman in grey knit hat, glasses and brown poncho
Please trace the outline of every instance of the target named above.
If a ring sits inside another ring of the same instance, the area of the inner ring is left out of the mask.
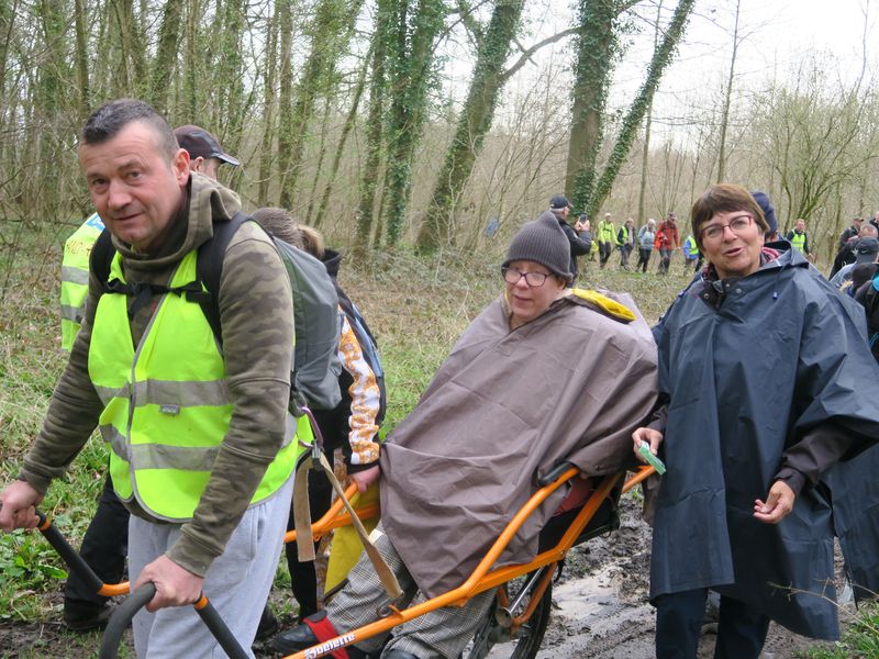
[[[525,224],[501,268],[503,294],[470,324],[413,412],[381,448],[376,545],[407,592],[460,585],[538,474],[569,460],[588,476],[621,470],[631,434],[655,400],[656,348],[634,304],[571,292],[568,239],[552,213]],[[499,565],[530,560],[558,491]],[[490,591],[393,629],[391,659],[455,659],[491,604]],[[386,603],[361,558],[325,614],[280,635],[292,652],[359,627]],[[348,648],[375,652],[385,639]]]

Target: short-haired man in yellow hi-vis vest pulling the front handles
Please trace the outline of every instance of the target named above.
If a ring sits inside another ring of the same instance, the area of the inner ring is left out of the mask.
[[[190,172],[165,119],[137,100],[96,111],[78,153],[112,235],[115,283],[104,290],[90,272],[82,326],[43,426],[0,493],[0,529],[37,524],[34,506],[99,426],[113,489],[132,513],[133,588],[156,587],[133,623],[137,656],[219,651],[194,610],[177,608],[202,592],[247,647],[275,577],[300,440],[311,439],[288,413],[285,266],[258,225],[241,225],[215,292],[221,353],[198,302],[173,291],[196,281],[198,247],[240,211],[238,197]]]

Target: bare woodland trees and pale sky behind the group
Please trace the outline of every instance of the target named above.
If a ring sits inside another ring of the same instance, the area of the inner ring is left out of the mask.
[[[214,132],[246,208],[356,250],[499,252],[560,191],[637,225],[686,217],[730,180],[767,191],[782,230],[805,217],[827,259],[879,209],[871,4],[768,4],[0,0],[0,220],[63,234],[88,215],[78,129],[131,96]],[[782,40],[783,12],[850,24],[823,49]]]

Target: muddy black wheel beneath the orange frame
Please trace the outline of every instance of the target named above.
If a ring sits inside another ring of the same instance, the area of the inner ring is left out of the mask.
[[[534,572],[513,579],[504,584],[509,590],[509,599],[513,601],[516,594],[530,581]],[[525,595],[522,603],[514,614],[521,614],[531,602],[531,594]],[[467,645],[461,654],[463,659],[534,659],[541,649],[546,625],[549,623],[549,615],[553,604],[553,582],[546,585],[546,590],[541,596],[531,618],[523,624],[515,636],[510,637],[510,629],[503,627],[498,622],[496,615],[499,608],[498,600],[494,599],[486,621],[479,626],[474,635],[474,639]]]

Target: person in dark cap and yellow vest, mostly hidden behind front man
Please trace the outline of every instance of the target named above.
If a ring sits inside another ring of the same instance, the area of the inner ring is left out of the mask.
[[[175,129],[177,144],[189,154],[189,169],[216,180],[220,165],[240,165],[216,138],[204,129],[185,125]],[[64,244],[62,261],[62,347],[68,353],[79,332],[88,297],[89,256],[94,242],[104,230],[98,213],[92,213]],[[113,491],[108,474],[98,507],[94,511],[79,555],[104,583],[118,583],[125,573],[127,554],[129,512]],[[71,632],[103,627],[110,619],[110,599],[99,595],[81,577],[70,572],[64,588],[64,624]]]

